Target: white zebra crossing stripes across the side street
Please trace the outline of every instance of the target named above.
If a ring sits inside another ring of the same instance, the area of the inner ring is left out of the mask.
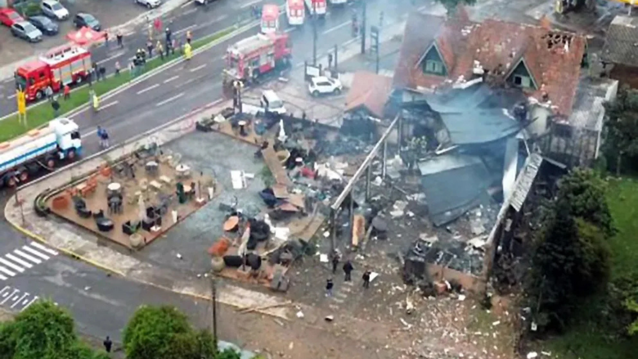
[[[0,256],[0,280],[8,280],[19,273],[24,273],[25,270],[33,268],[33,266],[41,264],[57,254],[56,250],[36,242],[16,248],[13,252]],[[6,298],[0,298],[0,300],[3,299]]]

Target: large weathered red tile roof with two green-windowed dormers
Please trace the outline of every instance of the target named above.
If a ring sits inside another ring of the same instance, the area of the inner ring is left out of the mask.
[[[421,70],[419,60],[433,43],[447,66],[447,78],[426,75]],[[537,89],[526,91],[528,96],[542,101],[546,94],[554,112],[568,116],[585,45],[584,36],[543,26],[501,20],[471,22],[466,16],[446,20],[412,13],[406,24],[393,86],[426,91],[446,80],[454,82],[461,77],[470,80],[475,61],[492,75],[491,80],[504,83],[514,66],[523,60],[537,85]]]

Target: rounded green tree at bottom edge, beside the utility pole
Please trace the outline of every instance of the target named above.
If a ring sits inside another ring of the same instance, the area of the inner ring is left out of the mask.
[[[211,333],[197,332],[175,307],[140,307],[124,329],[128,359],[214,359],[216,342]]]

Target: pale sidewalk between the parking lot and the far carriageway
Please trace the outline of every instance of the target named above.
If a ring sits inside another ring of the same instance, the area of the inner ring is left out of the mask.
[[[179,6],[182,6],[182,4],[187,3],[188,1],[189,0],[166,0],[163,4],[161,4],[161,6],[159,6],[159,8],[146,11],[145,13],[142,13],[138,17],[135,17],[135,19],[131,19],[128,22],[121,24],[120,26],[111,27],[110,29],[107,29],[106,31],[108,31],[111,34],[115,34],[117,33],[117,31],[121,31],[121,33],[124,36],[128,36],[130,34],[135,33],[135,30],[140,25],[147,24],[148,22],[152,22],[152,20],[158,17],[161,17],[167,13],[170,13],[170,11],[173,11],[179,8]],[[113,35],[112,38],[115,38],[115,35]],[[8,65],[1,66],[0,67],[0,82],[13,80],[13,73],[15,72],[16,68],[19,68],[20,66],[26,63],[29,63],[31,61],[38,59],[40,55],[41,54],[37,54],[34,56],[27,57],[24,60],[16,61],[15,63],[10,63]]]

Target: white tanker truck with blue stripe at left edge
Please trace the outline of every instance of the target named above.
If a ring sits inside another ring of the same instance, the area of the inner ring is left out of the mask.
[[[68,118],[57,118],[47,127],[31,130],[0,143],[0,187],[15,187],[29,181],[43,169],[80,155],[82,140],[78,125]]]

